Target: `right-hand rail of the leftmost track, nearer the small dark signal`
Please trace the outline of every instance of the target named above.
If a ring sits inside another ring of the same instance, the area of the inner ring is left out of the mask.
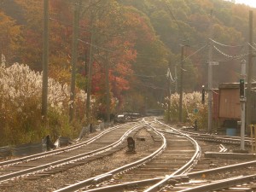
[[[12,172],[12,173],[9,173],[7,175],[0,176],[0,182],[9,180],[13,177],[20,177],[20,176],[26,175],[28,173],[32,174],[32,172],[43,171],[43,170],[47,170],[47,169],[52,169],[55,166],[62,166],[62,165],[66,165],[66,164],[69,164],[69,163],[73,163],[75,161],[83,160],[85,158],[88,158],[91,155],[101,154],[105,151],[110,150],[111,148],[114,148],[114,147],[118,146],[120,143],[122,143],[125,140],[125,137],[127,137],[131,133],[131,131],[134,131],[135,129],[137,129],[137,128],[143,126],[143,125],[145,125],[145,124],[134,126],[129,131],[126,131],[125,134],[117,142],[112,143],[112,144],[110,144],[108,146],[105,146],[103,148],[98,148],[96,150],[93,150],[93,151],[90,151],[90,152],[87,152],[87,153],[84,153],[84,154],[75,155],[73,157],[69,157],[69,158],[66,158],[66,159],[63,159],[63,160],[56,160],[54,162],[44,164],[42,166],[35,166],[35,167],[29,168],[29,169],[26,169],[26,170],[22,170],[20,172]]]

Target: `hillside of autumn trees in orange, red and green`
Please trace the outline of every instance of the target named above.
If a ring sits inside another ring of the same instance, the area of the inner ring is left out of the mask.
[[[106,85],[109,85],[112,113],[125,110],[143,113],[147,108],[158,108],[157,102],[163,102],[168,95],[167,68],[171,68],[173,77],[175,69],[180,70],[181,44],[189,45],[184,54],[184,90],[199,90],[207,81],[211,10],[213,39],[231,45],[244,44],[247,39],[249,7],[227,1],[80,2],[76,85],[87,91],[91,64],[91,94],[97,103],[96,113],[106,113]],[[6,66],[19,61],[41,72],[43,2],[3,0],[1,3],[0,50],[6,57]],[[61,84],[70,84],[73,9],[78,3],[76,0],[49,1],[49,77]],[[256,20],[253,25],[256,26]],[[221,50],[236,55],[245,53],[242,52],[245,49]],[[213,52],[213,57],[222,61],[213,69],[213,84],[235,81],[240,61],[225,59],[218,51]],[[109,84],[106,84],[106,73]],[[178,73],[176,80],[179,81]],[[174,82],[172,91],[175,86]],[[84,108],[76,108],[81,122]]]

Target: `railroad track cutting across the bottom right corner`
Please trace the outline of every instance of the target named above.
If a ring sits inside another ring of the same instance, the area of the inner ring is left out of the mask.
[[[256,160],[253,160],[201,172],[190,172],[183,183],[178,183],[173,177],[172,184],[166,185],[164,189],[170,192],[252,192],[256,189],[255,172]]]

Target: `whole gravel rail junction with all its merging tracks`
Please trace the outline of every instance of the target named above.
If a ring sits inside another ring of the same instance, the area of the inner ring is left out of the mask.
[[[133,139],[134,148],[128,148],[127,138]],[[247,148],[251,142],[246,139]],[[1,161],[0,190],[255,191],[255,155],[228,151],[239,144],[238,137],[139,119],[66,148]]]

